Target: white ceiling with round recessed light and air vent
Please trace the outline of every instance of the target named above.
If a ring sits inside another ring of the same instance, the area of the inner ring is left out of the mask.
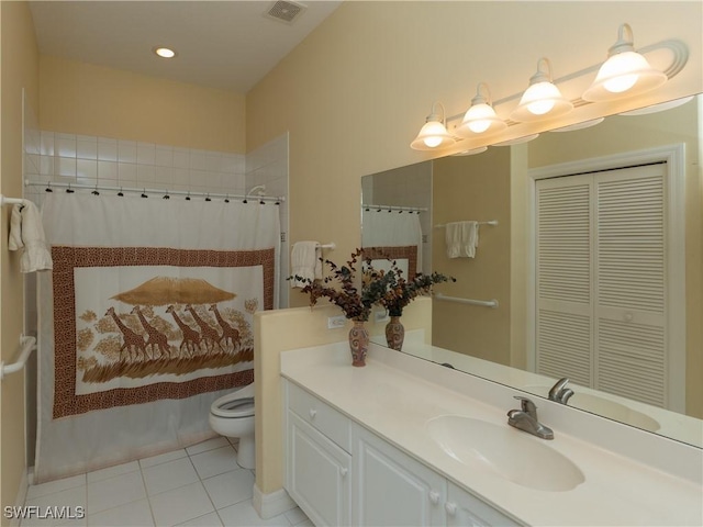
[[[291,22],[276,1],[31,1],[40,53],[246,93],[342,0],[308,1]],[[158,58],[157,45],[178,52]]]

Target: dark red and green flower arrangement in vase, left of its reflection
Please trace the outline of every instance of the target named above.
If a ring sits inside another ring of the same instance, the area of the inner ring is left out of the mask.
[[[359,260],[364,262],[364,267],[361,276],[357,277]],[[337,266],[327,259],[322,261],[331,270],[331,274],[324,279],[313,281],[295,276],[289,277],[289,280],[302,280],[306,283],[301,292],[310,294],[311,306],[317,303],[317,299],[324,296],[339,306],[347,318],[368,321],[371,307],[380,302],[394,276],[375,270],[370,266],[370,260],[364,258],[362,249],[352,253],[352,258],[346,266]],[[337,282],[338,287],[333,287],[332,282]]]

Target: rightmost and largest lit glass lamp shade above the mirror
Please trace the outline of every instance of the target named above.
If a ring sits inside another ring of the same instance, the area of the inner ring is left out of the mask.
[[[634,35],[629,24],[622,24],[617,42],[607,51],[591,87],[583,92],[584,101],[612,101],[623,97],[652,90],[667,81],[667,75],[652,68],[647,59],[635,52]]]

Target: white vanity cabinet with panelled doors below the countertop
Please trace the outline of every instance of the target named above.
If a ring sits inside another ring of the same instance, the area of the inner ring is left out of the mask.
[[[286,490],[314,525],[520,525],[297,384],[284,394]]]

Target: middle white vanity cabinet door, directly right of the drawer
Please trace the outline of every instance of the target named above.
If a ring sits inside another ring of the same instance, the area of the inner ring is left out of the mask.
[[[359,426],[353,457],[354,525],[445,525],[443,476]]]

